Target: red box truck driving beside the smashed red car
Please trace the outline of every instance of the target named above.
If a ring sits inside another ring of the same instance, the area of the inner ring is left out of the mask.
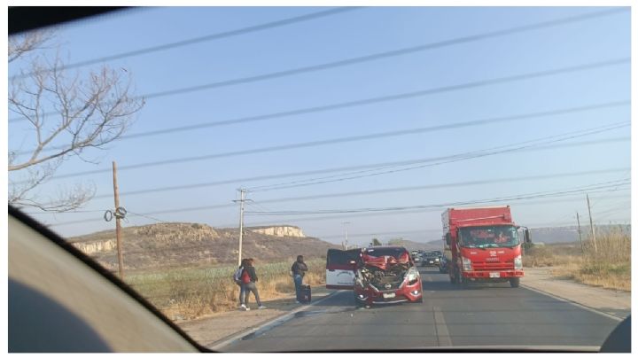
[[[448,208],[441,215],[447,273],[452,284],[506,282],[523,276],[521,240],[510,206]],[[523,228],[525,243],[529,230]]]

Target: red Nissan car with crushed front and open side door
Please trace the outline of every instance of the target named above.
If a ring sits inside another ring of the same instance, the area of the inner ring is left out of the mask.
[[[330,249],[327,259],[326,287],[353,289],[358,307],[423,302],[421,276],[405,247]]]

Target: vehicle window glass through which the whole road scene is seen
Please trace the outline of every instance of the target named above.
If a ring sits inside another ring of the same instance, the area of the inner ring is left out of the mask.
[[[638,36],[560,3],[9,35],[8,203],[214,351],[597,349],[631,312]]]

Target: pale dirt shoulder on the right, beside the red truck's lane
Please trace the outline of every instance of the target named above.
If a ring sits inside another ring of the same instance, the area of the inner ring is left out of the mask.
[[[552,277],[550,270],[551,268],[525,268],[521,285],[619,318],[625,318],[631,313],[631,292]]]

